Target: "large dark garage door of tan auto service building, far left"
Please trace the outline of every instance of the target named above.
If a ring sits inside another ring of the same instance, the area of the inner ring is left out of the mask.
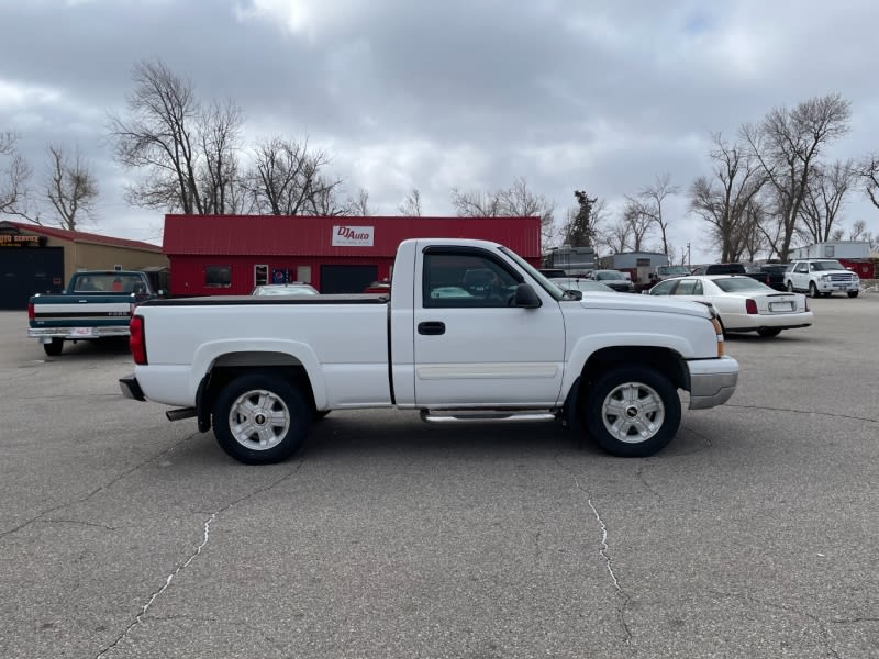
[[[58,293],[65,286],[63,247],[0,249],[0,309],[27,309],[34,293]]]

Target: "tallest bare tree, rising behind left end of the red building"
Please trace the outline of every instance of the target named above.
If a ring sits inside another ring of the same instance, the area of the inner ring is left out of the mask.
[[[132,75],[127,116],[110,115],[115,157],[124,167],[145,169],[126,189],[131,203],[186,214],[231,211],[237,185],[240,110],[227,102],[207,110],[188,80],[164,63],[142,62]]]

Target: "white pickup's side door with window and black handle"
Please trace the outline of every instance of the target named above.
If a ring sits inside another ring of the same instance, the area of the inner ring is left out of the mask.
[[[414,392],[421,407],[553,406],[565,359],[561,310],[511,306],[523,276],[481,248],[429,247],[416,258]]]

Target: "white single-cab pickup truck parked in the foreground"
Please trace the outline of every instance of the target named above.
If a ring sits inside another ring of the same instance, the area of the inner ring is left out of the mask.
[[[559,418],[649,456],[689,407],[726,402],[738,364],[711,308],[564,291],[496,243],[400,244],[390,294],[170,299],[137,306],[122,392],[197,417],[246,463],[291,456],[332,410],[427,422]],[[686,400],[686,399],[685,399]]]

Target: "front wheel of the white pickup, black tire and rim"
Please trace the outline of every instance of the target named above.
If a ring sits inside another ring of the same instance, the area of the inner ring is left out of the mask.
[[[680,399],[675,386],[655,369],[620,366],[589,387],[582,413],[589,436],[605,451],[644,458],[675,437]]]

